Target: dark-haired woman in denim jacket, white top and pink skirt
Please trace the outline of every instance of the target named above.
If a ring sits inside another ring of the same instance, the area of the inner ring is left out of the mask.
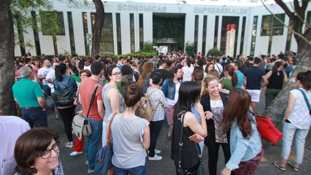
[[[169,133],[167,136],[168,140],[171,140],[174,106],[178,100],[178,91],[181,86],[180,78],[182,77],[182,74],[183,73],[181,68],[174,68],[169,78],[167,78],[162,85],[162,91],[168,102],[168,107],[165,108],[165,114],[167,116],[168,124],[170,125]]]

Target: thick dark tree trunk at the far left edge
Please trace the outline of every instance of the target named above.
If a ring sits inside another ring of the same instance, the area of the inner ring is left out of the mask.
[[[0,9],[0,110],[16,115],[12,86],[14,84],[14,28],[10,1],[2,1]]]

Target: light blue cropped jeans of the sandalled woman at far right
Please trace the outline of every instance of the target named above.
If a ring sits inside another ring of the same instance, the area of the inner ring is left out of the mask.
[[[305,137],[309,129],[298,129],[292,123],[285,122],[283,125],[283,147],[281,157],[288,159],[292,140],[295,137],[295,162],[301,164],[304,153]]]

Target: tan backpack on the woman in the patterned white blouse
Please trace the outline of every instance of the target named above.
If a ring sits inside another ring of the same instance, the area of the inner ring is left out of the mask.
[[[159,105],[160,105],[160,101],[159,103],[157,104],[157,106],[152,110],[152,107],[151,107],[151,104],[150,104],[150,96],[153,94],[153,92],[156,92],[157,90],[155,91],[152,91],[151,94],[148,96],[147,93],[145,93],[143,97],[140,98],[140,104],[139,104],[139,115],[141,118],[144,118],[148,121],[151,121],[152,118],[153,118],[153,115],[154,115],[154,112],[157,111]]]

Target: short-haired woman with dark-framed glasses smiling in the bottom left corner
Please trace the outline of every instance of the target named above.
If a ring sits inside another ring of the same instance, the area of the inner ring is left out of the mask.
[[[59,135],[48,128],[33,128],[22,134],[14,149],[15,175],[63,175],[58,138]]]

